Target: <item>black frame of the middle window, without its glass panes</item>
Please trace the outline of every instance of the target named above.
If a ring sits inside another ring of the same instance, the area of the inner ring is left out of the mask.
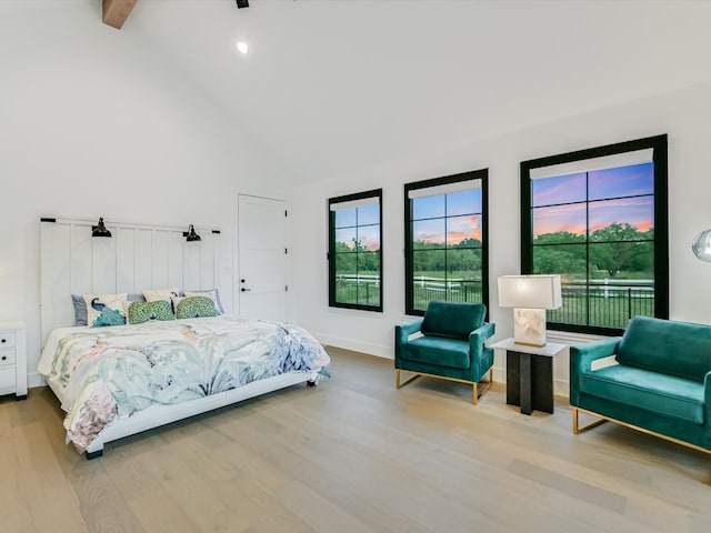
[[[414,309],[414,261],[412,235],[412,200],[410,191],[449,185],[461,181],[481,180],[481,294],[489,316],[489,169],[471,170],[441,178],[432,178],[404,184],[404,294],[405,314],[423,316],[424,311]]]

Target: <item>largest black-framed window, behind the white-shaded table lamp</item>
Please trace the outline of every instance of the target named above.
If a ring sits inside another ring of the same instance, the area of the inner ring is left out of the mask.
[[[521,163],[521,272],[561,274],[549,328],[669,318],[667,135]]]

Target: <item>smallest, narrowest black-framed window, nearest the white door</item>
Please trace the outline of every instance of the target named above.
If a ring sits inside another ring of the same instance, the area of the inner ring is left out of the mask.
[[[329,305],[382,311],[382,189],[329,200]]]

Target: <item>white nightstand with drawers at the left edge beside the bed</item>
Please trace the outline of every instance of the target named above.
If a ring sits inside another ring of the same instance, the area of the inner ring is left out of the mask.
[[[27,399],[27,325],[0,322],[0,395]]]

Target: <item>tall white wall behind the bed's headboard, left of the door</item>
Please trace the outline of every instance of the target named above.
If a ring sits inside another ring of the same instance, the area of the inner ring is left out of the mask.
[[[283,174],[178,66],[130,24],[103,26],[92,3],[0,6],[0,320],[28,322],[34,385],[40,217],[219,228],[231,309],[232,197],[278,195]]]

